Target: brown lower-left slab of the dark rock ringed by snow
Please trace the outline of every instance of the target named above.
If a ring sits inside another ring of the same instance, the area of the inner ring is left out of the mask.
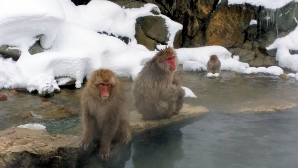
[[[138,44],[144,45],[148,50],[154,51],[155,49],[155,41],[153,39],[150,39],[146,36],[146,34],[143,32],[143,30],[140,28],[138,24],[136,24],[136,35],[135,35],[136,41]]]

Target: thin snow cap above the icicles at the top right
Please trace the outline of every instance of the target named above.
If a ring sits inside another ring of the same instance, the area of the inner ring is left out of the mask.
[[[263,6],[267,9],[277,9],[291,1],[293,0],[228,0],[228,5],[247,3],[255,6]]]

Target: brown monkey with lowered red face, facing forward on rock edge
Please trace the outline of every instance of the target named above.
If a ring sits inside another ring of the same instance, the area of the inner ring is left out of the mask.
[[[130,137],[129,112],[120,81],[108,69],[94,71],[81,96],[84,150],[91,143],[99,145],[99,157],[111,157],[111,143],[122,143]]]

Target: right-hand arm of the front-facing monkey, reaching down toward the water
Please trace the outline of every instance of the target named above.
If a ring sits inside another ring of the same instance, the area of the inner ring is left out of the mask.
[[[102,127],[102,135],[100,138],[100,157],[102,160],[109,158],[111,141],[119,127],[118,108],[108,111],[104,119]]]

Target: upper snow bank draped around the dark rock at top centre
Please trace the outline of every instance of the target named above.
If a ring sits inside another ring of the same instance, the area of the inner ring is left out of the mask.
[[[160,13],[155,4],[145,4],[141,8],[124,9],[119,5],[105,0],[92,0],[87,5],[75,6],[70,0],[59,0],[66,21],[76,23],[96,32],[106,32],[109,35],[128,37],[132,44],[137,44],[135,35],[136,19],[141,16],[156,16],[150,11]],[[168,45],[173,46],[175,34],[182,30],[182,25],[172,21],[167,16],[159,14],[166,20],[168,27]]]

